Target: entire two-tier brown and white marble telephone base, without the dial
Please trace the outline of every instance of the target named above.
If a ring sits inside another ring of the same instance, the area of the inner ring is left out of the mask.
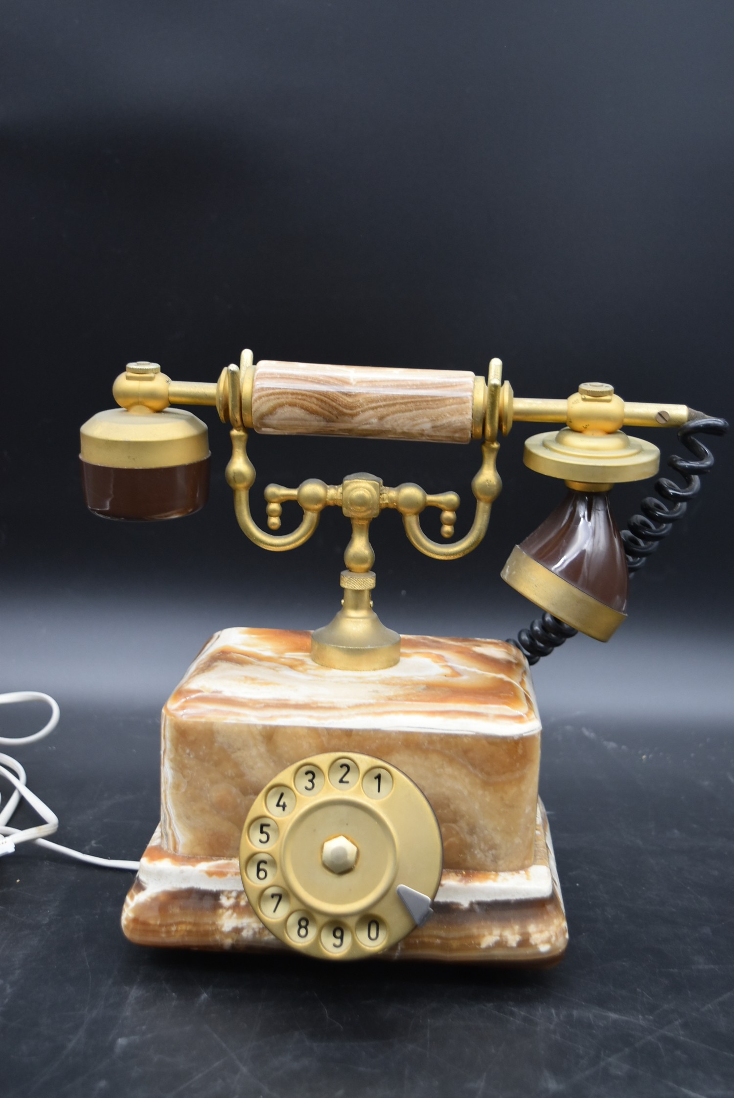
[[[288,950],[243,889],[243,825],[275,775],[340,752],[402,771],[441,828],[433,915],[386,956],[557,960],[567,929],[537,798],[541,724],[522,653],[496,640],[402,637],[397,665],[349,672],[314,663],[310,640],[225,629],[166,703],[160,827],[125,903],[127,938]],[[389,797],[376,805],[389,820]]]

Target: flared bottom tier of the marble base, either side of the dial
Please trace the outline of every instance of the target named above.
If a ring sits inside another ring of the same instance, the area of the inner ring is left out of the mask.
[[[554,963],[568,942],[548,821],[542,803],[532,864],[524,870],[445,870],[434,914],[393,949],[391,960]],[[160,828],[143,854],[122,912],[140,945],[288,953],[254,914],[234,858],[176,854]]]

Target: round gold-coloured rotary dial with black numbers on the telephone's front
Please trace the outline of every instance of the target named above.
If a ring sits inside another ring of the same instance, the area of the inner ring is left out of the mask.
[[[303,953],[357,960],[394,945],[430,914],[443,844],[423,793],[371,755],[329,752],[281,771],[242,832],[247,899]]]

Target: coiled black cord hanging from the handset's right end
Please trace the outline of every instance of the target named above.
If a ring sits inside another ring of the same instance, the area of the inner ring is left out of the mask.
[[[633,515],[629,522],[630,528],[622,530],[627,559],[627,571],[631,575],[637,572],[647,558],[655,552],[660,541],[667,538],[674,524],[682,518],[688,503],[701,491],[701,475],[713,469],[713,453],[697,438],[697,435],[725,435],[729,424],[725,419],[700,416],[689,419],[678,432],[678,438],[693,455],[693,459],[674,453],[668,458],[668,464],[686,481],[685,486],[676,484],[667,477],[655,482],[655,491],[660,496],[646,496],[640,504],[641,515]],[[665,502],[668,500],[671,506]],[[556,648],[564,645],[569,637],[575,637],[576,629],[559,621],[553,614],[544,614],[535,618],[530,629],[521,629],[518,639],[509,639],[527,658],[532,665],[543,656],[549,656]]]

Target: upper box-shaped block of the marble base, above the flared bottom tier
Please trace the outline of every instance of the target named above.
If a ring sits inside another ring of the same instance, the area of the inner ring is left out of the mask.
[[[235,859],[255,797],[324,751],[407,773],[441,826],[444,867],[532,864],[541,726],[524,657],[493,640],[403,637],[394,668],[348,672],[310,634],[225,629],[163,712],[162,836],[171,853]]]

